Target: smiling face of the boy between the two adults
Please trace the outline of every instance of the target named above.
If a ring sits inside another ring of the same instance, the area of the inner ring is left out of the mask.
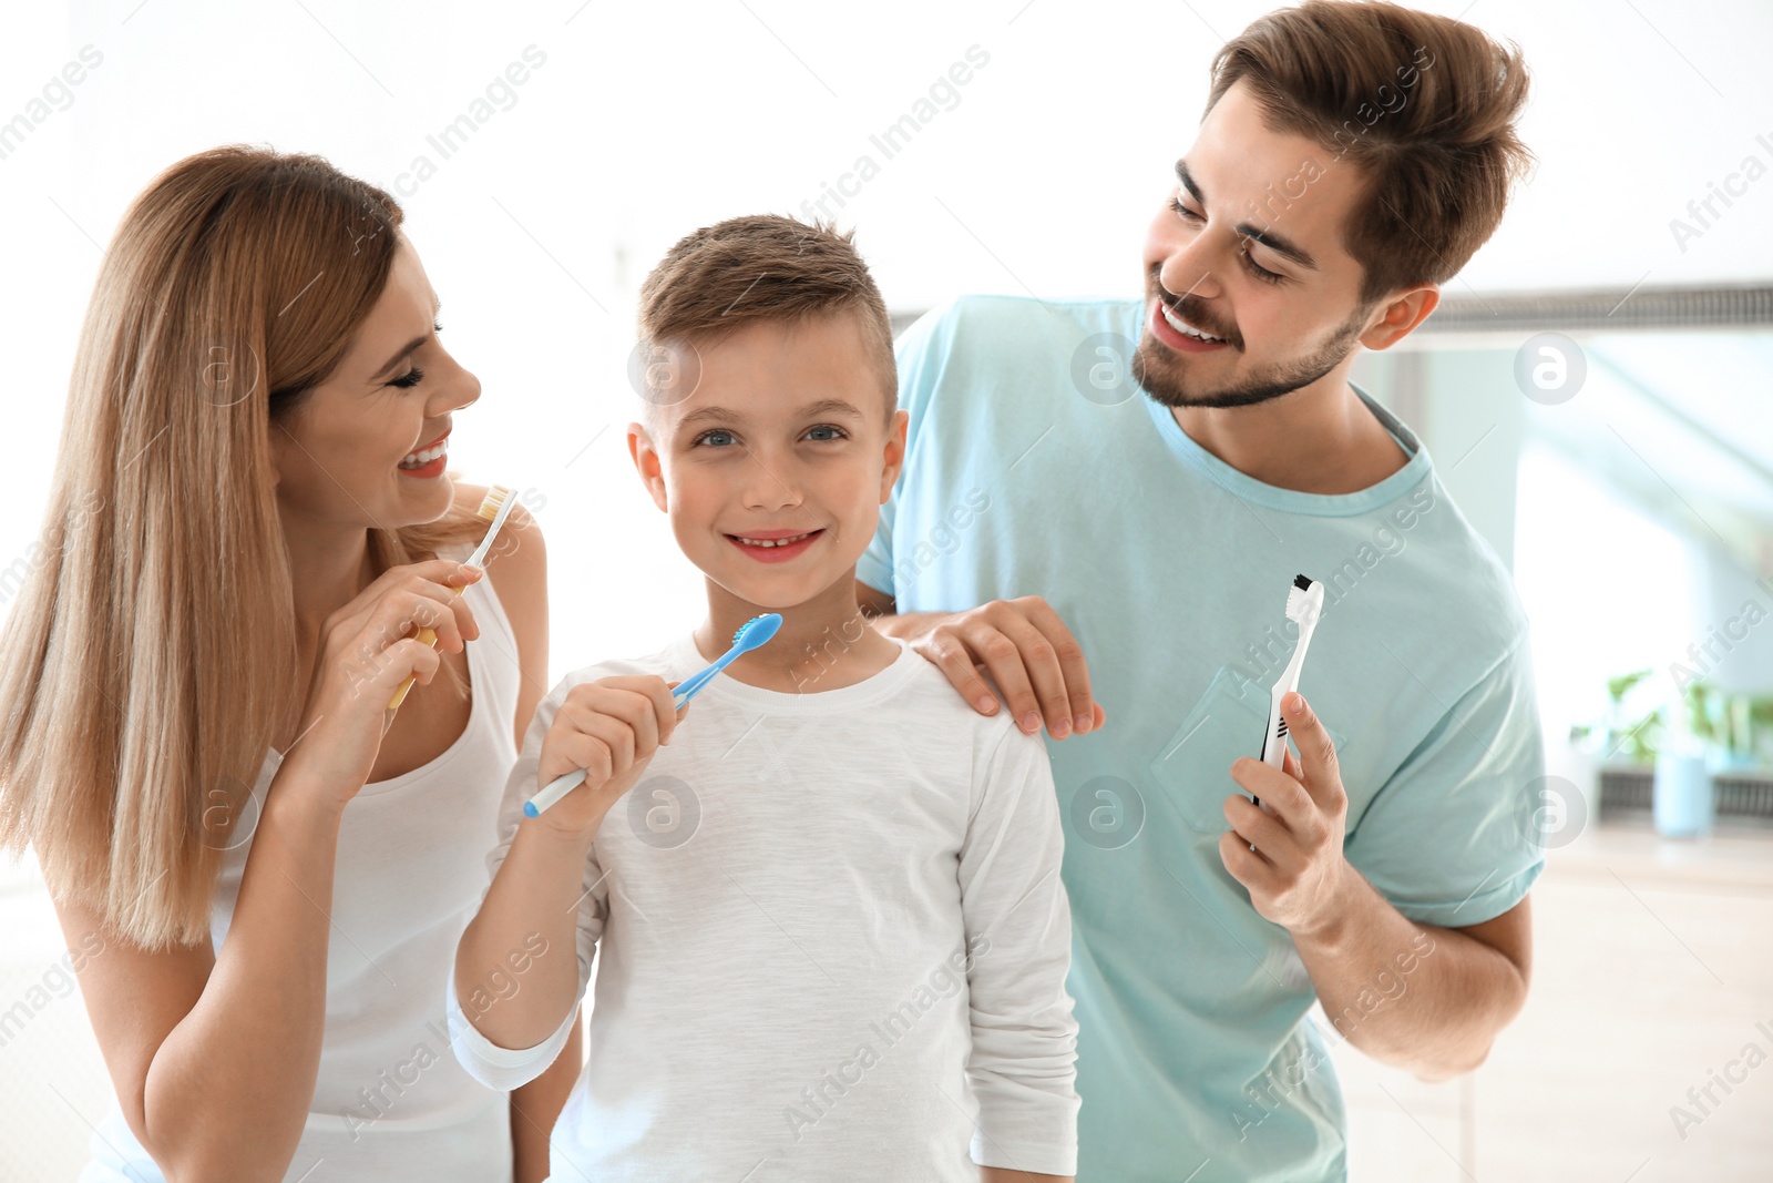
[[[693,394],[649,404],[628,447],[683,553],[707,576],[709,631],[782,612],[789,665],[858,614],[855,566],[904,458],[906,413],[856,316],[750,321],[695,344]]]

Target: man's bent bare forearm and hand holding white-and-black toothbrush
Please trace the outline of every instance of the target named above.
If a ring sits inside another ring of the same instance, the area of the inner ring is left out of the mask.
[[[1250,757],[1232,764],[1232,779],[1273,812],[1225,798],[1225,869],[1293,935],[1349,1043],[1424,1080],[1472,1071],[1527,1002],[1527,899],[1470,928],[1404,917],[1342,853],[1347,795],[1328,733],[1298,693],[1282,711],[1301,759],[1287,752],[1285,772]]]

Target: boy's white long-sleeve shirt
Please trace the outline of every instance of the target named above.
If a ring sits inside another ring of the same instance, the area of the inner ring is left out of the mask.
[[[596,835],[580,997],[590,1057],[553,1130],[555,1179],[977,1179],[1076,1169],[1071,913],[1046,748],[980,717],[904,642],[879,674],[800,693],[716,678]],[[567,692],[683,679],[690,637],[560,681],[500,811],[496,874]],[[519,940],[521,933],[512,933]],[[512,979],[521,990],[521,977]],[[488,990],[472,1009],[496,1006]],[[553,1062],[475,1030],[491,1087]]]

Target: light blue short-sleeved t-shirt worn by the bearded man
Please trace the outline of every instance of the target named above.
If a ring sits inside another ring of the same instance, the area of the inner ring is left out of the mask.
[[[1410,452],[1385,481],[1262,484],[1128,380],[1142,314],[972,296],[906,330],[906,466],[856,575],[901,612],[1039,594],[1083,646],[1108,722],[1048,740],[1078,1183],[1337,1179],[1346,1121],[1310,979],[1218,851],[1230,764],[1259,754],[1293,651],[1287,589],[1326,585],[1300,690],[1337,740],[1346,855],[1406,917],[1449,928],[1507,912],[1543,867],[1527,619],[1388,411],[1362,394]],[[1408,991],[1422,949],[1332,1016],[1344,1032]]]

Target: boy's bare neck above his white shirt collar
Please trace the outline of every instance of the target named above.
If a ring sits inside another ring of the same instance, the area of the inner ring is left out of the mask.
[[[734,633],[754,615],[777,612],[739,599],[707,580],[707,619],[695,630],[695,646],[707,662],[732,647]],[[823,592],[780,608],[782,628],[761,649],[725,669],[746,686],[784,693],[840,690],[881,672],[899,656],[899,646],[874,631],[856,605],[855,569]]]

